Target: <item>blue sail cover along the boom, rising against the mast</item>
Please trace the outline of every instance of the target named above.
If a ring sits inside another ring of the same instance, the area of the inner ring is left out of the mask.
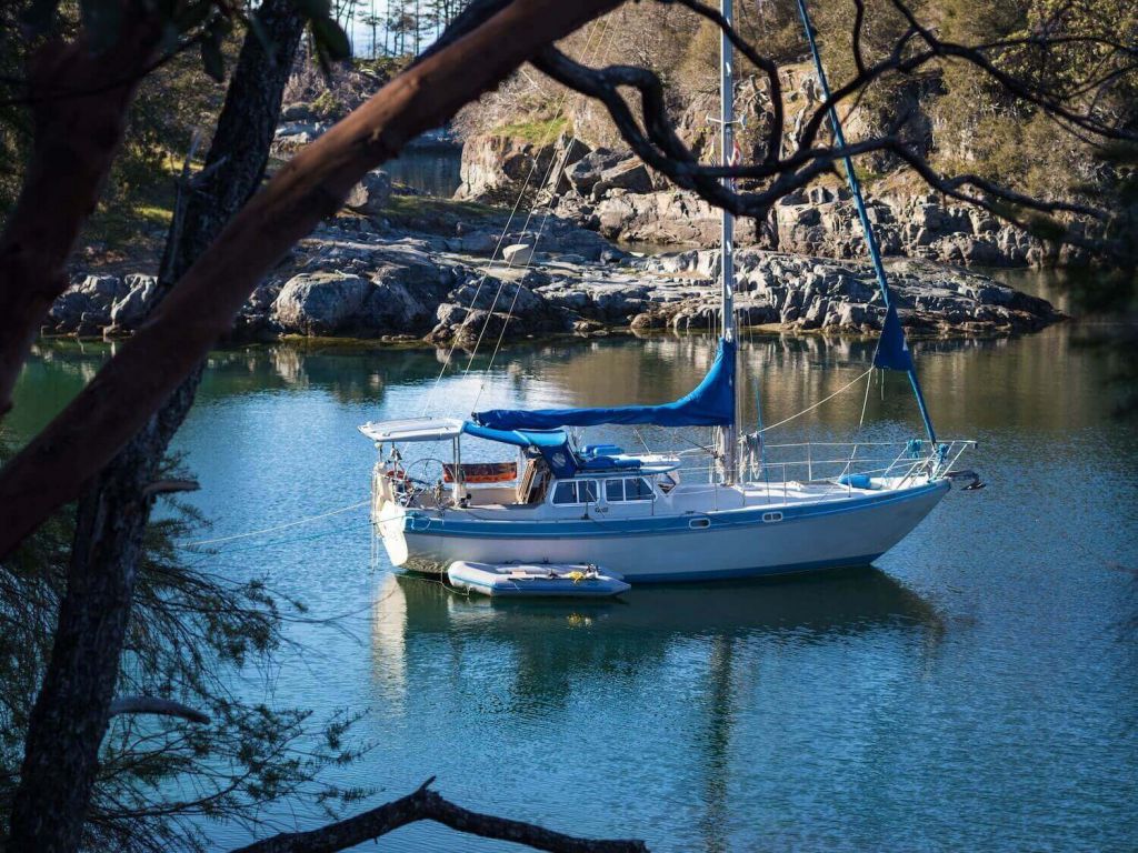
[[[608,408],[541,408],[531,412],[495,408],[476,412],[475,420],[495,430],[552,430],[605,423],[726,426],[735,420],[735,343],[720,340],[715,363],[703,381],[674,403]]]

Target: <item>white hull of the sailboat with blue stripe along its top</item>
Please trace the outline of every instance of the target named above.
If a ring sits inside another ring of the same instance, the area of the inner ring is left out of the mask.
[[[378,527],[391,562],[439,572],[455,561],[595,563],[630,582],[679,582],[867,565],[948,492],[947,480],[795,507],[751,507],[621,522],[468,522],[388,505]],[[417,529],[418,528],[418,529]]]

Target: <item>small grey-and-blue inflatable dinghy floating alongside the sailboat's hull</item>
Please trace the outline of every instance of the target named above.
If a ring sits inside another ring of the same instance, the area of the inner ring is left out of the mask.
[[[459,589],[494,597],[603,598],[630,589],[619,574],[567,563],[451,563],[446,577]]]

